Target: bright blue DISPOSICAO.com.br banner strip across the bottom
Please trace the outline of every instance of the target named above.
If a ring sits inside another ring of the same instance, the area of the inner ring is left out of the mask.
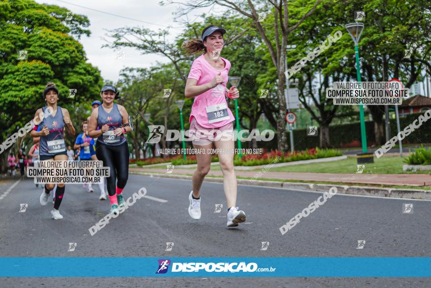
[[[0,277],[431,277],[429,257],[4,257]]]

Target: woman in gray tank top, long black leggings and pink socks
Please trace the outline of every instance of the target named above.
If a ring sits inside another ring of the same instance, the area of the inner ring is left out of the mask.
[[[97,138],[97,159],[103,161],[104,167],[110,168],[107,188],[111,201],[110,212],[114,215],[118,215],[119,208],[124,207],[122,191],[129,177],[129,148],[124,134],[132,131],[127,110],[114,103],[118,95],[115,86],[103,86],[100,92],[103,103],[93,110],[88,124],[88,135]],[[97,127],[100,129],[97,130]]]

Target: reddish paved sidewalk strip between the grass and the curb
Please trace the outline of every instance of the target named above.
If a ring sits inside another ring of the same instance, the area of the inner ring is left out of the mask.
[[[135,172],[166,173],[165,169],[143,169],[129,168]],[[175,168],[173,174],[191,175],[192,169]],[[253,178],[259,171],[239,171],[235,174],[240,177]],[[223,177],[221,171],[210,171],[209,176]],[[278,181],[296,180],[312,182],[342,182],[342,183],[363,183],[363,184],[385,184],[385,185],[409,185],[424,186],[431,185],[431,177],[427,174],[330,174],[330,173],[295,173],[295,172],[262,172],[263,179],[274,179]],[[258,179],[259,180],[259,179]]]

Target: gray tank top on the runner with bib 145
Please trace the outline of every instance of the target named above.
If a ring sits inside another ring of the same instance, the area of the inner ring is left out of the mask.
[[[48,115],[47,106],[43,107],[45,115]],[[48,115],[45,117],[41,124],[39,124],[42,130],[45,125],[49,129],[48,136],[42,135],[39,142],[39,155],[55,155],[62,152],[66,152],[66,144],[64,142],[63,131],[63,112],[61,107],[57,106],[57,113],[55,116]]]

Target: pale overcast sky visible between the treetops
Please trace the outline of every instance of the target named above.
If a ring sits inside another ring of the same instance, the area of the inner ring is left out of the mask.
[[[65,2],[66,1],[66,2]],[[150,67],[156,61],[167,62],[165,58],[158,55],[141,55],[140,52],[132,48],[123,48],[125,57],[123,60],[115,59],[116,52],[110,48],[101,48],[106,42],[101,38],[107,38],[105,29],[111,30],[124,26],[143,26],[145,28],[155,29],[163,26],[172,25],[179,27],[178,23],[173,23],[172,12],[175,11],[175,4],[160,6],[159,0],[36,0],[38,3],[54,4],[65,7],[76,14],[86,15],[90,20],[89,29],[90,37],[82,36],[79,42],[84,46],[87,57],[94,66],[98,67],[101,75],[105,80],[117,81],[120,70],[124,67]],[[116,14],[128,18],[148,22],[145,24],[135,20],[124,19],[116,16],[107,15],[94,10],[86,9],[79,6],[96,9],[111,14]],[[195,11],[190,15],[194,20],[197,13],[206,13],[210,7]],[[197,19],[199,21],[199,19]],[[158,26],[158,25],[162,26]],[[171,28],[171,38],[173,39],[180,29]]]

